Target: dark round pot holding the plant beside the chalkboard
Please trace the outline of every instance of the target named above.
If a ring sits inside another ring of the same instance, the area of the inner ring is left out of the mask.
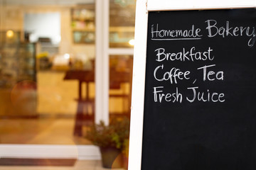
[[[108,169],[122,168],[123,159],[120,149],[115,147],[100,147],[102,166]]]

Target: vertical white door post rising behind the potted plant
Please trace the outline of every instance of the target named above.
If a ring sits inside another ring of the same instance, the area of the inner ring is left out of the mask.
[[[109,69],[107,56],[108,43],[108,1],[95,0],[96,2],[96,74],[95,74],[95,123],[103,120],[108,124],[109,120]]]

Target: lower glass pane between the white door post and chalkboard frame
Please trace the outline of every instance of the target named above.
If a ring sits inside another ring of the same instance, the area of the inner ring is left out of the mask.
[[[130,55],[110,56],[110,120],[130,115],[132,96],[132,62]]]

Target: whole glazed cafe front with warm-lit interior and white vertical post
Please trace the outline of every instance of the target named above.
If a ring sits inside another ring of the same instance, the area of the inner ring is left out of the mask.
[[[129,119],[134,23],[135,0],[0,0],[0,147],[92,146]]]

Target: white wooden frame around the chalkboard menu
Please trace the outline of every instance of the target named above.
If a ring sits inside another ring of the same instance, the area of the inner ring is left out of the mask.
[[[187,1],[137,0],[134,66],[132,80],[131,126],[129,139],[129,170],[139,170],[142,165],[142,132],[144,120],[144,90],[146,76],[146,39],[148,11],[201,10],[221,8],[256,8],[255,0]]]

